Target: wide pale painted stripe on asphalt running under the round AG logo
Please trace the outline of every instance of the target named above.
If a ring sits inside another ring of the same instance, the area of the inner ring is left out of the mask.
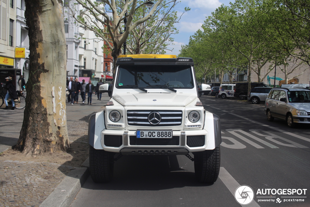
[[[237,187],[239,187],[241,185],[223,167],[219,168],[219,179],[221,179],[221,181],[225,184],[225,186],[228,188],[228,190],[235,197],[235,191],[236,191]],[[253,200],[248,205],[241,205],[241,206],[260,207],[260,205],[258,205],[255,200]]]

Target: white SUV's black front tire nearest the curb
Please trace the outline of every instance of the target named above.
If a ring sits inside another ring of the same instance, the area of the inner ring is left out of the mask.
[[[110,182],[113,177],[114,153],[89,146],[89,171],[94,182]]]

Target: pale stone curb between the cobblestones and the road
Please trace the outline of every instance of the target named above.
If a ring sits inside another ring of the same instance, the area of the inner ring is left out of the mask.
[[[88,175],[88,168],[73,168],[39,207],[68,207]]]

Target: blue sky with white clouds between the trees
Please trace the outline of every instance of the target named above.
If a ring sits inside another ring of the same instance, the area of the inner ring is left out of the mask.
[[[211,15],[211,12],[214,11],[221,4],[229,6],[229,0],[181,0],[175,7],[175,10],[179,14],[182,14],[185,7],[191,8],[190,11],[187,11],[183,14],[179,23],[176,23],[175,26],[179,30],[179,34],[175,34],[172,37],[174,38],[174,44],[168,45],[168,49],[172,49],[172,52],[167,50],[166,54],[178,55],[181,45],[188,44],[189,37],[193,35],[198,29],[201,29],[201,25],[205,21],[207,16]]]

